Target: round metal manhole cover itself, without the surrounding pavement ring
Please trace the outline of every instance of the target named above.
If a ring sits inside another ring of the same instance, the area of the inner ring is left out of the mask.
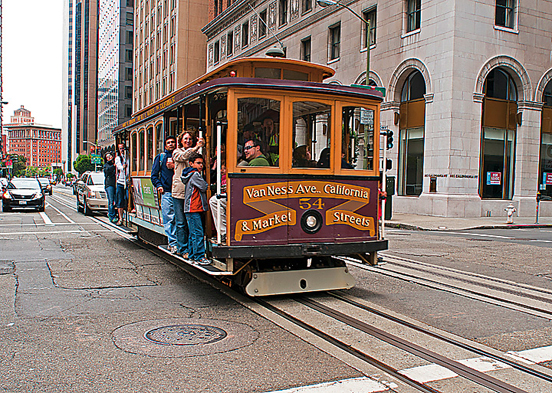
[[[226,337],[226,332],[208,325],[163,326],[146,332],[146,338],[158,344],[211,344]]]

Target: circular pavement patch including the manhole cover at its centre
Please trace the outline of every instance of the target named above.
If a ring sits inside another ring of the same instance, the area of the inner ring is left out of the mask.
[[[153,357],[203,356],[251,345],[259,333],[251,326],[220,319],[173,318],[135,322],[112,333],[123,351]]]

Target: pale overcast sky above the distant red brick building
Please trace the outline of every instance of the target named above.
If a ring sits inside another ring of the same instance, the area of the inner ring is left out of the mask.
[[[61,128],[63,0],[2,0],[3,122],[21,105]]]

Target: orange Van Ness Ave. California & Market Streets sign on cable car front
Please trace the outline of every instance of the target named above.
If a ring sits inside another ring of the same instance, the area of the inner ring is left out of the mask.
[[[327,200],[345,199],[337,206],[326,209]],[[264,183],[243,188],[243,204],[261,212],[264,216],[238,220],[235,240],[244,235],[254,235],[285,225],[296,225],[297,210],[276,202],[296,200],[299,210],[325,211],[325,224],[343,224],[375,236],[373,217],[357,213],[370,202],[370,189],[355,184],[332,181],[288,181]],[[325,202],[326,201],[326,202]]]

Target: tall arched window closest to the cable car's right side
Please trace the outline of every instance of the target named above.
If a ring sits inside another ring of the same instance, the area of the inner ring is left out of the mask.
[[[401,91],[399,124],[399,195],[422,193],[424,166],[425,81],[412,72]]]

